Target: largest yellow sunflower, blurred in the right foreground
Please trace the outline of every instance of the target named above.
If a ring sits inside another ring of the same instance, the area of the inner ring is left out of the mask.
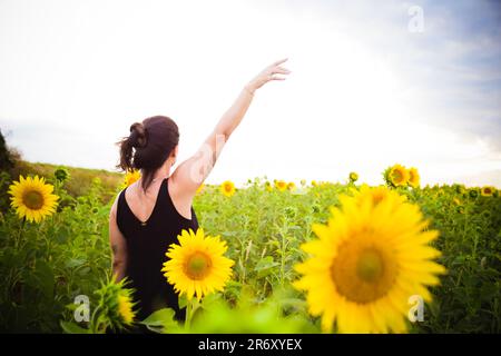
[[[324,332],[334,323],[341,333],[406,332],[409,298],[430,301],[425,286],[438,285],[436,274],[445,271],[428,245],[438,231],[424,231],[419,207],[383,189],[342,196],[327,225],[313,225],[318,239],[302,245],[312,256],[296,265],[302,277],[294,286],[307,291]]]

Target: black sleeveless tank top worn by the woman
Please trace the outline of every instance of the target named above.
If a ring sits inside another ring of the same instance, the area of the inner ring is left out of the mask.
[[[165,254],[169,245],[178,244],[177,236],[183,229],[196,231],[198,221],[193,207],[190,220],[177,211],[167,186],[168,178],[161,181],[157,201],[146,222],[130,210],[125,197],[127,188],[118,198],[117,225],[127,240],[126,276],[130,287],[135,288],[138,320],[166,307],[176,312],[177,319],[185,318],[185,309],[179,309],[177,294],[160,270],[168,258]]]

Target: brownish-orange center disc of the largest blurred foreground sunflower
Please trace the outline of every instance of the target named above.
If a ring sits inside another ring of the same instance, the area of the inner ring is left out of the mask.
[[[353,240],[340,247],[331,266],[331,277],[337,291],[358,304],[386,295],[395,275],[395,263],[384,249],[362,247]]]

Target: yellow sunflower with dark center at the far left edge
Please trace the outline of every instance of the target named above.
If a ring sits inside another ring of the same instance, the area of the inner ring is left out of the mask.
[[[53,186],[47,185],[45,178],[20,176],[19,181],[14,181],[9,187],[12,208],[16,209],[19,218],[28,221],[40,222],[47,216],[56,212],[59,197],[52,194]]]

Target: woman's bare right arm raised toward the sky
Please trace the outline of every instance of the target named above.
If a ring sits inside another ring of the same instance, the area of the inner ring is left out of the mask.
[[[223,115],[214,131],[207,137],[198,151],[181,162],[171,175],[171,181],[191,198],[197,188],[209,175],[232,132],[240,123],[254,97],[254,92],[272,80],[284,80],[291,71],[281,67],[287,59],[278,60],[262,70],[240,91],[232,107]]]

